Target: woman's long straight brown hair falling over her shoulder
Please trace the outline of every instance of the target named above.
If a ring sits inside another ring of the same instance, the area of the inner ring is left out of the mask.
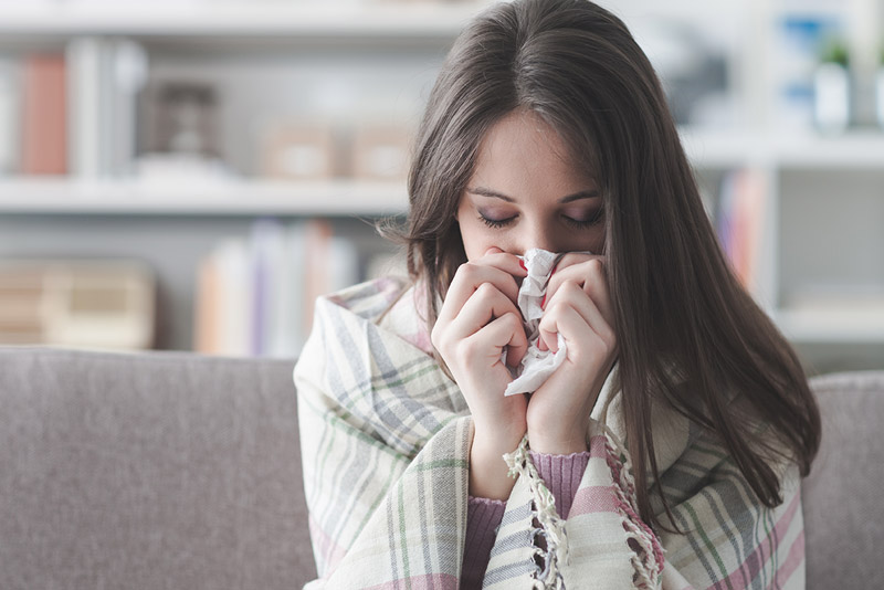
[[[429,326],[466,261],[454,213],[480,143],[516,108],[551,125],[602,193],[642,517],[661,524],[648,491],[649,475],[659,480],[653,397],[716,433],[758,498],[780,504],[772,462],[809,472],[819,410],[791,347],[726,262],[653,67],[627,27],[588,0],[495,6],[449,53],[417,137],[404,230],[409,273],[430,289]],[[758,442],[759,424],[772,441]]]

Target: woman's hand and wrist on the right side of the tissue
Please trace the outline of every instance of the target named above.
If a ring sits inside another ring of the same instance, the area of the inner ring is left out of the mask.
[[[566,254],[547,286],[540,348],[567,345],[565,362],[528,403],[528,439],[539,453],[587,450],[589,415],[617,359],[617,331],[603,259]]]

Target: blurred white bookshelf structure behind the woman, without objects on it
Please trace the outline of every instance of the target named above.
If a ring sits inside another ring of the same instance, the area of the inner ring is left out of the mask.
[[[249,235],[259,219],[328,219],[336,234],[358,244],[362,264],[366,255],[389,254],[391,246],[373,235],[370,223],[404,211],[401,178],[358,178],[351,169],[315,179],[267,177],[259,127],[297,115],[337,126],[336,133],[344,127],[345,136],[364,120],[413,128],[448,46],[487,3],[0,3],[0,62],[72,46],[88,52],[90,43],[94,49],[120,40],[140,48],[148,63],[146,85],[131,108],[141,113],[136,122],[141,135],[129,141],[144,144],[149,125],[144,96],[161,84],[198,81],[218,88],[223,129],[218,145],[227,166],[222,175],[194,178],[108,169],[99,154],[107,138],[93,128],[105,114],[72,107],[81,129],[71,139],[69,175],[0,175],[0,256],[146,261],[159,280],[157,345],[189,348],[201,257],[231,235]],[[685,122],[681,129],[709,212],[716,219],[726,213],[726,188],[748,177],[761,197],[750,276],[756,298],[811,372],[884,368],[884,133],[873,120],[867,83],[870,55],[884,31],[884,2],[602,3],[642,44],[650,39],[645,49],[655,65],[660,45],[644,33],[661,17],[723,39],[727,120]],[[834,14],[844,25],[857,81],[855,122],[845,133],[822,135],[782,120],[780,65],[770,56],[779,51],[778,28],[788,14]],[[97,55],[71,70],[72,84],[92,88],[85,96],[104,92],[88,78],[96,75]]]

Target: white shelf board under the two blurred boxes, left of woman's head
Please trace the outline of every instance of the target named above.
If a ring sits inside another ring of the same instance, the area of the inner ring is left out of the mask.
[[[407,204],[404,181],[0,180],[3,213],[388,215]]]

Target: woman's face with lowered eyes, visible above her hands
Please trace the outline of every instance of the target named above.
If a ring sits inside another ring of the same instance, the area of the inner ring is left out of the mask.
[[[558,134],[530,110],[492,127],[457,207],[467,260],[492,246],[518,255],[532,247],[601,253],[601,194],[567,155]]]

